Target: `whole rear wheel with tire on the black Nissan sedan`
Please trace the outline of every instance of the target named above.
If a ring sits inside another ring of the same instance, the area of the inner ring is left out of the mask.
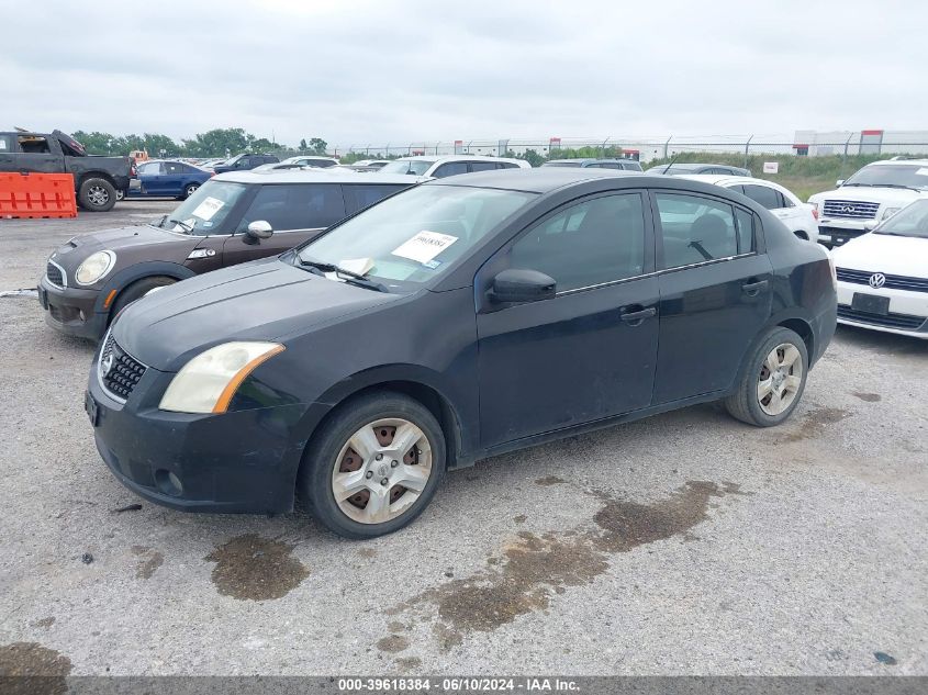
[[[774,350],[775,363],[772,361]],[[725,407],[742,423],[773,427],[796,408],[807,375],[805,341],[789,328],[771,328],[746,360],[738,375],[737,390],[725,399]],[[762,395],[764,391],[767,394]]]

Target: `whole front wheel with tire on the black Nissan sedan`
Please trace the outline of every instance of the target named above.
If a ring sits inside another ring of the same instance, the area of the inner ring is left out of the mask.
[[[391,448],[401,436],[400,448]],[[422,514],[445,466],[445,435],[435,416],[418,401],[382,391],[338,406],[306,448],[297,492],[329,530],[374,538]]]

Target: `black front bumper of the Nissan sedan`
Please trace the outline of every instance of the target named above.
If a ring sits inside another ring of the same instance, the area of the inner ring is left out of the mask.
[[[94,359],[88,388],[97,449],[137,495],[185,512],[283,513],[293,508],[305,406],[220,415],[158,410],[174,374],[147,368],[126,403],[107,391]]]

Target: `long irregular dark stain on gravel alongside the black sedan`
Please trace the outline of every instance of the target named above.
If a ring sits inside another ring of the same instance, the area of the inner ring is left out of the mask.
[[[487,559],[482,570],[426,590],[388,613],[434,619],[433,634],[439,647],[448,650],[469,632],[489,632],[518,616],[549,608],[554,595],[588,585],[608,570],[612,554],[686,535],[708,518],[711,500],[745,494],[752,493],[741,492],[735,483],[719,486],[705,481],[690,481],[652,504],[596,494],[604,504],[593,517],[595,526],[541,535],[519,531],[500,553]]]

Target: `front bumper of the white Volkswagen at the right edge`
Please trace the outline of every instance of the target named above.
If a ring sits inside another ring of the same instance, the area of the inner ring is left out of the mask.
[[[886,298],[888,312],[883,314],[856,310],[854,294]],[[869,284],[839,280],[838,323],[928,339],[928,293],[874,289]]]

